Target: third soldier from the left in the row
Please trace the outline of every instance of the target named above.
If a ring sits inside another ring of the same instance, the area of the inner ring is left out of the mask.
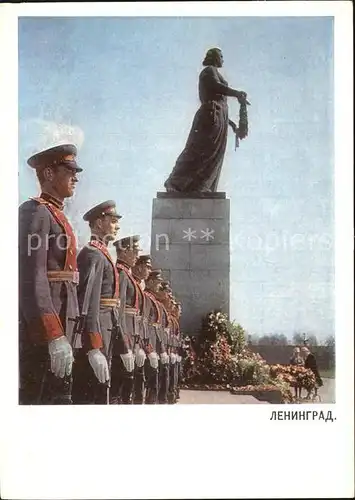
[[[122,309],[122,329],[124,338],[130,351],[135,358],[134,371],[128,371],[126,366],[118,366],[117,378],[120,380],[118,392],[122,404],[132,404],[134,394],[134,381],[140,381],[142,369],[146,360],[146,354],[142,348],[141,330],[139,327],[139,298],[140,290],[137,281],[132,275],[139,255],[140,237],[129,236],[114,243],[117,252],[116,267],[119,275],[121,309]],[[138,385],[139,382],[137,382]]]

